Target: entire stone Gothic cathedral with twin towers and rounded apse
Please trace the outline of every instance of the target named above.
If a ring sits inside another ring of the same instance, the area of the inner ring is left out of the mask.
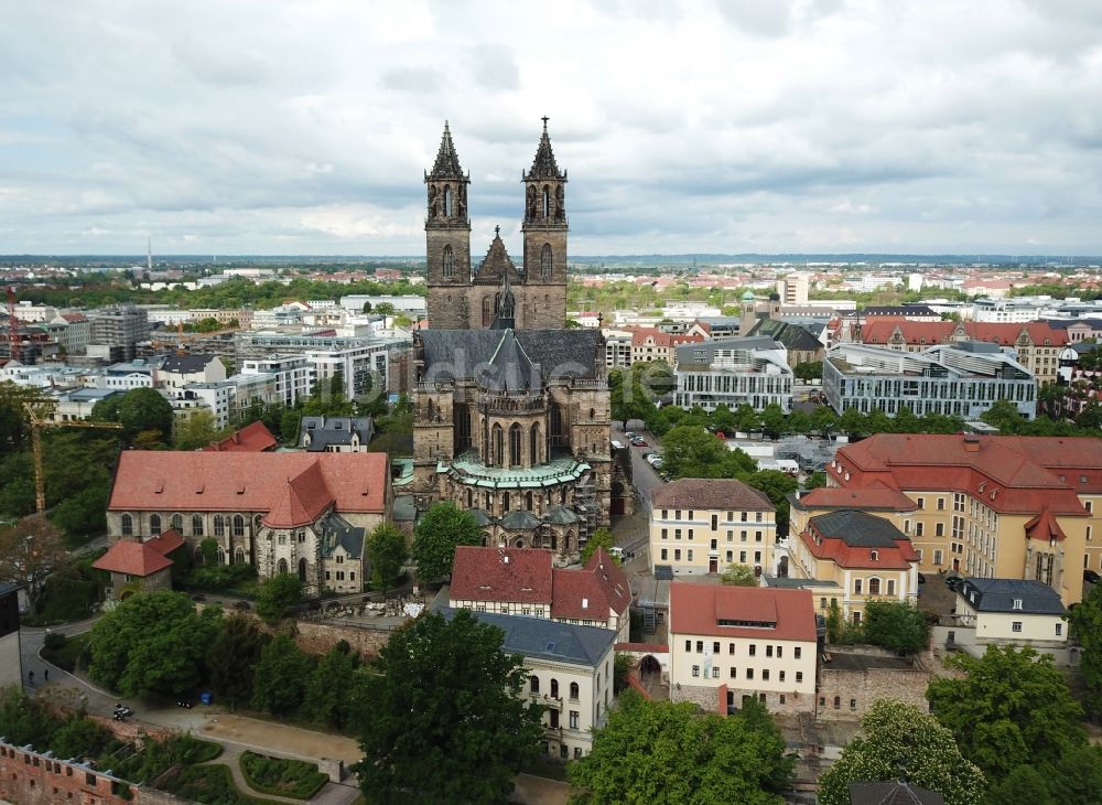
[[[604,340],[566,330],[566,173],[543,121],[525,185],[518,267],[496,234],[469,258],[468,174],[445,124],[425,173],[429,328],[413,334],[413,492],[453,501],[486,545],[568,565],[629,497],[611,434]],[[628,464],[629,466],[629,464]]]

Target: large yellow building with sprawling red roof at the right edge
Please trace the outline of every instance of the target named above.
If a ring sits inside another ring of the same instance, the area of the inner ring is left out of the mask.
[[[830,486],[915,502],[919,570],[1033,579],[1065,604],[1102,569],[1102,450],[1089,438],[877,433],[839,449]]]

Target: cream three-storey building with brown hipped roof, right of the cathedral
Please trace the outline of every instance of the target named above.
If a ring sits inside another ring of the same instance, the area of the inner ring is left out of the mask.
[[[679,479],[651,493],[650,566],[674,576],[774,568],[776,511],[766,494],[736,479]]]

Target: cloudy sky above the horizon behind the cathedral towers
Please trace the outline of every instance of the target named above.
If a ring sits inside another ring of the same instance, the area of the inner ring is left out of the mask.
[[[445,119],[520,253],[1102,254],[1099,0],[0,4],[0,254],[421,255]]]

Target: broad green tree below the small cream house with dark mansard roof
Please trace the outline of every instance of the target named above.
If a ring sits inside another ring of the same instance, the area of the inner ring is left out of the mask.
[[[1085,744],[1082,708],[1051,655],[990,645],[979,659],[953,654],[946,666],[965,676],[934,678],[926,697],[964,756],[993,780]]]

